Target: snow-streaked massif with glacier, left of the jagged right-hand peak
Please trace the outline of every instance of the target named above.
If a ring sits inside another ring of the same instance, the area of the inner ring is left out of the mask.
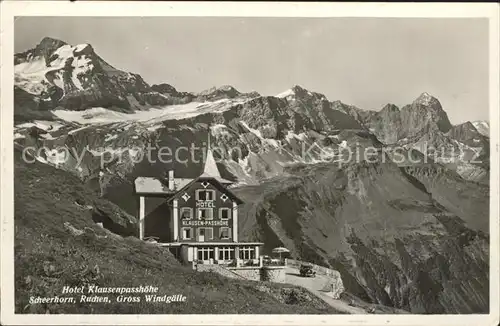
[[[223,160],[228,177],[255,183],[282,173],[286,165],[331,155],[327,147],[342,139],[328,132],[363,131],[324,95],[299,86],[287,98],[242,93],[229,85],[197,94],[168,84],[149,86],[139,75],[113,68],[89,44],[44,38],[15,56],[15,71],[16,120],[21,122],[16,141],[50,148],[35,154],[37,159],[85,179],[106,171],[132,173],[136,163],[130,154],[137,153],[132,147],[201,144],[210,133],[215,146],[241,148],[242,155]],[[177,141],[172,144],[172,139]],[[301,155],[302,143],[310,147],[318,139],[320,149]],[[81,164],[75,165],[77,154],[60,159],[61,148],[67,147],[84,151]],[[103,172],[96,166],[103,153],[127,163],[110,163]]]

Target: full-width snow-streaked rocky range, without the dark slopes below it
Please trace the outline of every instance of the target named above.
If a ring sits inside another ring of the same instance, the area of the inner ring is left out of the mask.
[[[52,38],[16,54],[14,63],[16,142],[48,148],[33,155],[84,179],[135,174],[140,149],[201,145],[208,134],[225,153],[220,164],[226,177],[240,184],[258,183],[296,164],[338,162],[342,149],[367,146],[425,152],[424,145],[431,144],[446,149],[434,161],[468,179],[487,176],[487,166],[470,161],[475,152],[485,157],[488,139],[470,123],[467,130],[452,126],[428,93],[402,109],[388,104],[374,112],[331,102],[298,85],[276,96],[230,85],[181,92],[113,68],[90,44]],[[62,160],[65,148],[83,154]],[[229,153],[234,148],[239,155]],[[460,150],[467,152],[465,160],[456,154]],[[105,168],[98,164],[102,155],[112,156]],[[149,170],[166,168],[156,166]]]

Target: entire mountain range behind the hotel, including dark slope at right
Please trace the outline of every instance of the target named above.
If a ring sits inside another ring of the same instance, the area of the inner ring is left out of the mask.
[[[274,96],[229,85],[185,92],[117,70],[89,44],[50,38],[14,62],[16,148],[128,213],[135,177],[199,175],[203,152],[190,158],[185,147],[210,138],[246,203],[242,238],[339,270],[367,302],[488,310],[489,138],[477,123],[453,126],[430,94],[375,112],[297,85]],[[178,159],[162,160],[165,148]],[[368,149],[388,160],[368,162]]]

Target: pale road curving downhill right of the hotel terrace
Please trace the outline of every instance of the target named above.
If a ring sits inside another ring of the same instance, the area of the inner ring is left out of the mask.
[[[321,291],[330,280],[323,275],[316,277],[301,277],[299,270],[291,267],[286,268],[286,283],[302,286],[311,291],[318,298],[328,303],[333,308],[346,312],[348,314],[366,314],[367,312],[358,307],[349,306],[346,302],[334,299],[328,295],[328,292]]]

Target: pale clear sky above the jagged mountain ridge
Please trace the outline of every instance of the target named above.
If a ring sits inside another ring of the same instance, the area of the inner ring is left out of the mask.
[[[488,120],[486,19],[17,18],[16,52],[44,36],[90,43],[116,68],[180,91],[301,85],[376,110],[428,92],[452,123]]]

